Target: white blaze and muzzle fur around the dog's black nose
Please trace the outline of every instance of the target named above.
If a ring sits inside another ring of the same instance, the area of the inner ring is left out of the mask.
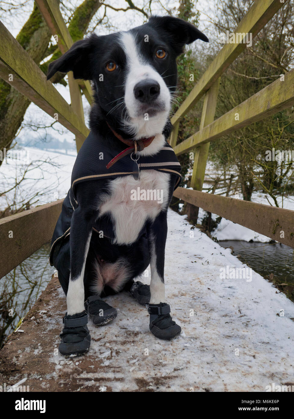
[[[130,116],[130,121],[125,122],[125,124],[138,138],[159,134],[162,132],[169,116],[171,99],[169,89],[161,75],[140,55],[133,34],[122,32],[121,42],[127,57],[125,105]],[[142,104],[134,95],[135,85],[146,79],[152,79],[159,83],[160,94],[156,101],[164,103],[164,110],[158,111],[154,116],[148,116],[148,119],[146,119],[146,115],[143,112],[140,114],[140,106]]]

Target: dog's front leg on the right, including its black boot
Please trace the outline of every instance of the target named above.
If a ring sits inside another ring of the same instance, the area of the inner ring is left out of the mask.
[[[161,212],[154,222],[147,225],[148,248],[151,268],[149,328],[159,339],[170,340],[181,333],[181,328],[170,316],[170,307],[165,302],[164,252],[167,240],[167,212]]]

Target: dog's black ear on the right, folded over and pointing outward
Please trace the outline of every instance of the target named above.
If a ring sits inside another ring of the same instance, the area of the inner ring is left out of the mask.
[[[174,18],[172,16],[152,16],[149,19],[149,22],[155,28],[167,32],[176,43],[176,47],[178,47],[178,49],[180,48],[181,51],[185,44],[191,44],[191,42],[196,39],[208,42],[206,35],[199,31],[192,23],[183,21],[180,18]]]

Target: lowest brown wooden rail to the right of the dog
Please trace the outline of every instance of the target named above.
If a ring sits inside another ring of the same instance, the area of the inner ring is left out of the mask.
[[[185,188],[177,188],[174,196],[294,247],[294,211],[290,209]]]

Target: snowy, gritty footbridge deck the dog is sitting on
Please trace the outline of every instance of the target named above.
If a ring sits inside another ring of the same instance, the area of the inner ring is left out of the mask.
[[[22,371],[11,372],[9,384],[27,378],[30,391],[266,391],[273,383],[294,385],[294,304],[255,272],[251,281],[222,279],[226,266],[230,272],[245,266],[230,249],[172,210],[168,226],[166,296],[182,327],[177,339],[156,339],[146,308],[122,292],[106,299],[117,308],[114,321],[88,324],[88,354],[65,359],[57,351],[65,297],[55,282],[37,303],[42,316],[36,309],[29,313],[23,333],[14,333],[3,349]],[[149,283],[150,271],[142,279]]]

